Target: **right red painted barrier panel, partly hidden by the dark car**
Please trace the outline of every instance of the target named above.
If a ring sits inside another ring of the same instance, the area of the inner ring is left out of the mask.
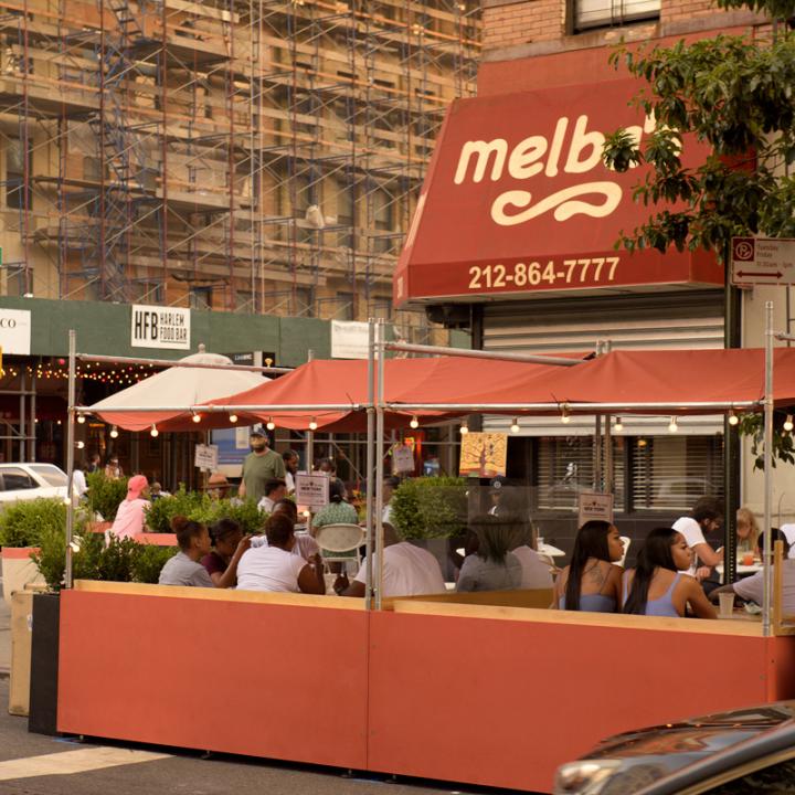
[[[765,702],[766,650],[788,658],[795,643],[392,613],[371,622],[370,768],[540,792],[610,734]]]

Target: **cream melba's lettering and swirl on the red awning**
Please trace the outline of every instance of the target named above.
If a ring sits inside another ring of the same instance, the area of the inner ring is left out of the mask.
[[[587,123],[585,115],[579,116],[574,123],[562,168],[564,173],[587,173],[602,163],[604,135],[597,130],[589,130]],[[626,128],[637,141],[644,132],[653,129],[651,117],[645,119],[643,127]],[[517,180],[531,179],[541,173],[554,178],[561,170],[568,130],[569,118],[563,116],[558,119],[551,141],[544,136],[529,136],[519,141],[510,152],[505,138],[467,141],[462,147],[453,181],[462,184],[469,176],[473,182],[481,182],[489,167],[492,182],[501,179],[505,171]],[[500,226],[516,226],[549,211],[553,211],[556,221],[568,221],[573,215],[605,218],[618,206],[622,195],[622,187],[610,180],[569,186],[542,197],[534,204],[533,193],[530,191],[509,190],[500,193],[491,203],[491,220]]]

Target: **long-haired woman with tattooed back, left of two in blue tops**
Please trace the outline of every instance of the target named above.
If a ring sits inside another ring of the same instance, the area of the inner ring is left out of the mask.
[[[624,556],[618,530],[593,519],[577,530],[572,562],[555,582],[553,607],[590,613],[615,613],[621,601],[623,569],[614,565]]]

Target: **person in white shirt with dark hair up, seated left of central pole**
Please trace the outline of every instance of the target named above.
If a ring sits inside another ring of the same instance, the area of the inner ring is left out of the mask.
[[[300,555],[293,554],[296,539],[288,516],[272,513],[265,522],[265,536],[267,547],[247,550],[237,564],[239,591],[326,593],[320,558],[314,555],[307,563]]]

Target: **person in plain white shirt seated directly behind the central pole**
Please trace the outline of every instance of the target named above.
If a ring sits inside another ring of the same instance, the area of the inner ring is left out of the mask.
[[[427,550],[401,541],[392,524],[384,524],[383,596],[414,596],[444,593],[445,584],[438,561]],[[342,575],[335,583],[340,596],[364,596],[367,560],[353,582]]]

